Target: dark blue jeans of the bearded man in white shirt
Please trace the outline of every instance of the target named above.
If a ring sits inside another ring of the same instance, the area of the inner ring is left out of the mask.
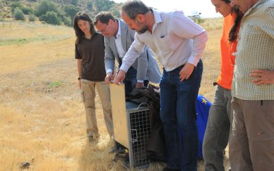
[[[197,170],[199,151],[195,104],[201,84],[200,60],[188,80],[180,81],[182,66],[167,72],[160,81],[160,117],[164,126],[167,167]],[[180,130],[178,130],[180,129]],[[179,135],[182,131],[182,136]]]

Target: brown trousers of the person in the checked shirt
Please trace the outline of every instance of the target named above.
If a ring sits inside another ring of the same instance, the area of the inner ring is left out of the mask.
[[[234,120],[229,141],[232,171],[272,171],[274,168],[274,100],[232,98]]]

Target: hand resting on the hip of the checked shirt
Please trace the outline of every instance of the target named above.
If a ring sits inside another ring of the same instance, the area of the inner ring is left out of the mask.
[[[258,77],[252,80],[252,83],[255,83],[256,86],[274,83],[274,70],[252,70],[249,76]]]

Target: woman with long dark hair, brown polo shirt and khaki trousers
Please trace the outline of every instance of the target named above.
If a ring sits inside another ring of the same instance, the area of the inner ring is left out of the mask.
[[[79,12],[74,19],[75,59],[77,59],[79,88],[86,109],[86,132],[90,142],[99,138],[95,109],[95,87],[103,107],[103,116],[110,137],[113,136],[109,85],[105,83],[104,41],[95,31],[88,14]]]

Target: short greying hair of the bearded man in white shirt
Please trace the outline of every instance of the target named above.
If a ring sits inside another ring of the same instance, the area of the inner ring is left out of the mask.
[[[139,0],[126,1],[122,5],[122,11],[132,20],[135,20],[137,14],[147,14],[149,10],[149,7]]]

